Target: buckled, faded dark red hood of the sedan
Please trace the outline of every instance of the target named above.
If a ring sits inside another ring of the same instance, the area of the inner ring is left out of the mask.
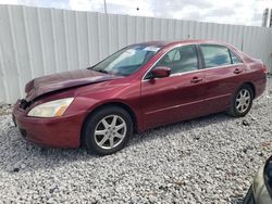
[[[45,93],[115,78],[121,78],[121,76],[103,74],[91,69],[77,69],[38,77],[25,86],[26,101],[29,102]]]

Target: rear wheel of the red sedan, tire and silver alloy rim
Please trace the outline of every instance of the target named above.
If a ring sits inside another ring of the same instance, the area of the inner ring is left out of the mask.
[[[244,117],[250,111],[252,101],[252,88],[249,85],[243,85],[232,99],[231,107],[227,111],[228,115],[233,117]]]

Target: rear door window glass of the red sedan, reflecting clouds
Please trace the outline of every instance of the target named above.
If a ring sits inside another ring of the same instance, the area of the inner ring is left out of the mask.
[[[232,64],[228,49],[218,44],[201,44],[205,67],[215,67]]]

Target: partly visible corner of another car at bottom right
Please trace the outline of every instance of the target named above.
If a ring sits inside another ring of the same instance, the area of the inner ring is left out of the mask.
[[[272,203],[272,155],[258,170],[243,204]]]

